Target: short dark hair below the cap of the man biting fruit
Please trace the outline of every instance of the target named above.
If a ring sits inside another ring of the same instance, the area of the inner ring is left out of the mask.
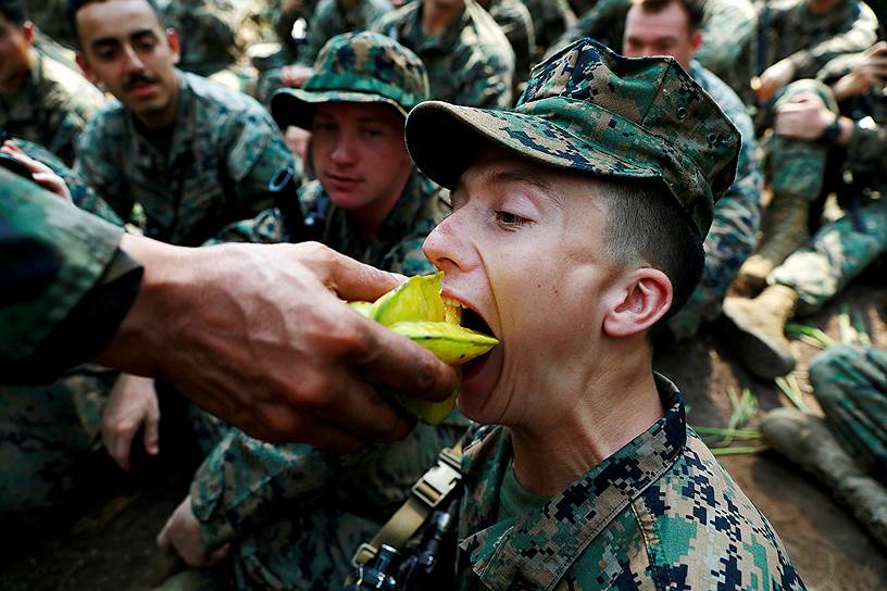
[[[672,281],[673,316],[702,277],[705,253],[690,216],[659,181],[597,177],[607,206],[604,249],[620,267],[647,264]]]

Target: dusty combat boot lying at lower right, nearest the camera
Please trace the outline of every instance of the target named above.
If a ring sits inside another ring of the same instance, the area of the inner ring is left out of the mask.
[[[840,447],[825,422],[797,408],[776,408],[761,420],[764,441],[822,482],[887,549],[887,489]]]

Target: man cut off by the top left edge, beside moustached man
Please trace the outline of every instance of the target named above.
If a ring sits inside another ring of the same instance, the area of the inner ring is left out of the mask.
[[[77,72],[33,48],[22,0],[0,1],[0,129],[74,162],[74,147],[104,97]]]

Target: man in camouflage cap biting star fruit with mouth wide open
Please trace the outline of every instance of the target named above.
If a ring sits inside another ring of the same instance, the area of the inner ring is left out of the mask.
[[[736,171],[711,98],[671,58],[585,39],[513,112],[421,104],[407,143],[452,190],[425,242],[442,293],[501,342],[464,367],[459,405],[483,426],[449,588],[804,589],[651,367]]]

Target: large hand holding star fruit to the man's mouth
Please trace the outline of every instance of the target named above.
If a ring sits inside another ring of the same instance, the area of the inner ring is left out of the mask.
[[[253,437],[351,451],[413,426],[371,383],[452,391],[452,368],[342,302],[377,299],[392,274],[315,242],[186,249],[124,235],[121,248],[145,278],[97,362],[170,381]]]

